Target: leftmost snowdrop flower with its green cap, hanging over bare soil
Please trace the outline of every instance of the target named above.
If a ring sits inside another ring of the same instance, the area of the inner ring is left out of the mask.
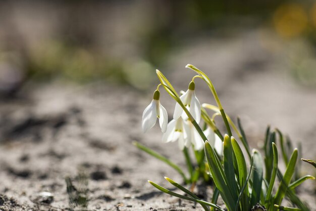
[[[144,133],[155,125],[157,117],[159,118],[162,132],[165,133],[167,131],[168,114],[167,110],[160,104],[159,98],[160,92],[158,90],[154,91],[151,103],[143,112],[141,127]]]

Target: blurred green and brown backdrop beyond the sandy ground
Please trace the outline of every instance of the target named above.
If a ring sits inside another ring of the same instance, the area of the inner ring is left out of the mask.
[[[247,48],[253,39],[294,80],[315,87],[315,34],[314,1],[2,1],[0,90],[56,78],[147,90],[152,70],[183,49],[221,48],[215,40]]]

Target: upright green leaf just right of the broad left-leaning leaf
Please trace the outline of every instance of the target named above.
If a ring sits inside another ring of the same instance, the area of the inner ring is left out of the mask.
[[[233,138],[233,137],[232,137]],[[230,137],[226,134],[224,136],[224,172],[228,182],[228,187],[234,200],[238,199],[237,185],[234,171],[234,154]],[[238,167],[237,167],[238,170]]]

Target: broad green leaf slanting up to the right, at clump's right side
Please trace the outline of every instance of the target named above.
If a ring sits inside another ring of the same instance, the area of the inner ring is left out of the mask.
[[[281,180],[280,186],[275,195],[274,204],[281,204],[282,199],[288,189],[289,183],[293,177],[296,161],[297,161],[297,149],[294,149],[292,156],[289,160],[289,163],[287,165],[286,171],[284,173],[284,177]],[[276,208],[274,210],[276,210]]]

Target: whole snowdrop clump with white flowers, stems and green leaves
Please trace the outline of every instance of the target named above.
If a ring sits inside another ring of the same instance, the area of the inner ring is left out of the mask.
[[[310,210],[298,198],[295,190],[305,180],[314,179],[310,175],[300,177],[297,163],[300,161],[301,147],[294,148],[291,140],[280,130],[268,126],[263,153],[250,149],[241,120],[237,118],[236,125],[225,112],[209,77],[193,65],[188,64],[186,68],[193,70],[196,75],[189,81],[187,91],[180,92],[181,95],[176,92],[166,76],[156,70],[160,83],[153,93],[151,103],[142,114],[141,124],[143,132],[146,133],[155,125],[158,118],[163,143],[178,143],[186,169],[143,144],[133,144],[174,168],[183,179],[180,183],[189,186],[189,189],[168,177],[165,179],[184,194],[168,190],[152,181],[148,182],[169,195],[199,203],[205,211]],[[216,105],[200,103],[195,93],[197,80],[206,83]],[[160,101],[161,88],[176,101],[173,119],[170,122],[167,110]],[[219,130],[215,121],[216,116],[222,117],[224,131]],[[237,134],[237,138],[232,136],[232,132]],[[286,165],[284,173],[279,169],[279,154]],[[315,166],[312,160],[302,160]],[[213,189],[210,202],[201,200],[193,193],[199,180]],[[217,204],[219,196],[226,207]],[[285,197],[293,207],[281,205]]]

